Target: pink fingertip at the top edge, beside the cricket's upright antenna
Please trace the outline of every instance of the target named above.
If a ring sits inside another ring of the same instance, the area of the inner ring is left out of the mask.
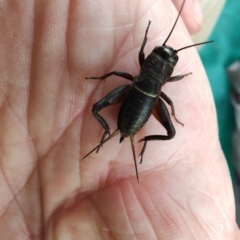
[[[176,8],[182,6],[183,0],[172,0]],[[181,14],[183,21],[190,33],[196,33],[202,26],[203,16],[199,0],[186,1]]]

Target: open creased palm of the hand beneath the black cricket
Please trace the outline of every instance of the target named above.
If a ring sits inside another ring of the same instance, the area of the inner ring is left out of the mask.
[[[129,139],[120,145],[117,136],[79,162],[103,133],[92,105],[131,84],[85,76],[137,75],[148,20],[146,56],[176,19],[171,1],[0,6],[1,239],[239,239],[213,98],[194,48],[179,52],[173,75],[193,74],[163,87],[184,127],[172,119],[175,138],[148,144],[139,184]],[[182,20],[168,44],[191,44]],[[111,131],[118,109],[101,112]],[[150,134],[165,134],[154,117],[135,136],[137,154],[137,141]]]

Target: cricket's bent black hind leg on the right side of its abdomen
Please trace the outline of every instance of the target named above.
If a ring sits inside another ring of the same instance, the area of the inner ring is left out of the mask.
[[[140,163],[142,163],[143,161],[143,155],[149,141],[170,140],[174,138],[176,134],[168,109],[161,98],[158,99],[153,114],[167,130],[167,135],[150,135],[139,140],[139,142],[144,142],[142,151],[139,154],[139,156],[141,157]]]

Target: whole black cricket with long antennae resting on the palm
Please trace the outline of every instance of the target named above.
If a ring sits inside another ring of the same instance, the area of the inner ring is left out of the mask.
[[[143,154],[146,150],[148,141],[154,140],[169,140],[172,139],[175,134],[175,128],[173,126],[172,120],[168,109],[164,101],[170,105],[172,116],[175,120],[183,125],[180,121],[177,120],[175,116],[175,109],[172,100],[161,91],[162,86],[167,82],[174,82],[183,79],[185,76],[191,74],[187,73],[184,75],[177,75],[171,77],[174,67],[178,62],[177,53],[183,49],[190,48],[193,46],[211,43],[213,41],[197,43],[190,46],[185,46],[178,50],[174,50],[172,47],[166,45],[169,37],[171,36],[173,29],[179,19],[179,16],[182,12],[185,0],[181,6],[177,19],[174,22],[174,25],[164,41],[162,46],[156,46],[153,51],[145,59],[144,47],[147,42],[148,29],[151,24],[149,21],[143,43],[138,55],[139,64],[140,64],[140,73],[138,76],[133,77],[131,74],[122,72],[122,71],[113,71],[109,72],[101,77],[86,77],[86,79],[106,79],[112,75],[126,78],[132,81],[131,85],[124,85],[118,87],[107,94],[103,99],[98,101],[93,105],[92,113],[98,122],[103,126],[105,132],[103,133],[100,143],[92,149],[87,155],[82,159],[89,156],[92,152],[96,150],[99,151],[100,147],[110,140],[112,137],[120,133],[120,143],[125,137],[130,137],[132,152],[136,170],[136,177],[139,181],[138,170],[137,170],[137,161],[134,147],[134,135],[145,125],[148,121],[150,115],[156,117],[156,119],[163,125],[167,130],[167,135],[150,135],[142,138],[139,142],[144,142],[143,148],[139,154],[141,156],[140,163],[143,161]],[[164,100],[164,101],[163,101]],[[118,128],[110,134],[110,128],[105,121],[105,119],[99,115],[99,111],[107,106],[122,103],[119,114],[118,114]],[[81,160],[82,160],[81,159]]]

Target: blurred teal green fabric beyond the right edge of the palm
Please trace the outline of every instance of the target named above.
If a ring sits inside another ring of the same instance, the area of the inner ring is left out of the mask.
[[[235,128],[226,68],[240,57],[240,1],[227,0],[221,16],[200,56],[206,69],[217,108],[219,137],[233,177],[232,133]],[[240,147],[240,146],[239,146]]]

